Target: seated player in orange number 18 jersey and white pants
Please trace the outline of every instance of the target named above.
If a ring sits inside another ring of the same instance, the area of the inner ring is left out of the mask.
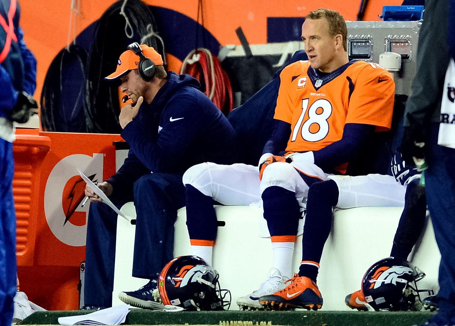
[[[261,296],[281,290],[292,276],[298,221],[314,182],[344,174],[349,160],[375,131],[390,129],[394,81],[379,65],[349,61],[347,28],[338,12],[314,10],[302,25],[308,61],[280,74],[274,130],[258,167],[210,162],[183,176],[187,226],[194,255],[211,264],[217,234],[214,200],[249,205],[262,200],[273,245],[273,268],[256,291],[238,299],[262,308]]]

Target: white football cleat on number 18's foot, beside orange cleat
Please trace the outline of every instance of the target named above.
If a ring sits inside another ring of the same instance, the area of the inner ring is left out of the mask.
[[[284,289],[286,286],[284,281],[286,280],[288,280],[288,277],[281,276],[280,271],[276,268],[271,268],[270,271],[268,271],[267,280],[259,286],[258,290],[237,299],[238,308],[240,310],[264,309],[259,303],[259,298]]]

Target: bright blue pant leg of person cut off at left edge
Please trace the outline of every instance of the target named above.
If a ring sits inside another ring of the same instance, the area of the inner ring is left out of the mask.
[[[0,138],[0,325],[11,325],[16,294],[13,144]]]

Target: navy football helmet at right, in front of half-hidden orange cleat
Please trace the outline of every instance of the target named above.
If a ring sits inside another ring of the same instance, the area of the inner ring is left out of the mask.
[[[422,308],[417,281],[425,277],[409,261],[399,257],[388,257],[374,263],[362,279],[362,292],[374,310],[413,310]]]

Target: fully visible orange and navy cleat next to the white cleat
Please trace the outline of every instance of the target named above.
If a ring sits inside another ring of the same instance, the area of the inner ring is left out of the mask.
[[[259,298],[260,304],[267,310],[289,310],[304,308],[318,310],[322,307],[322,296],[315,282],[305,276],[294,277],[283,290]]]

